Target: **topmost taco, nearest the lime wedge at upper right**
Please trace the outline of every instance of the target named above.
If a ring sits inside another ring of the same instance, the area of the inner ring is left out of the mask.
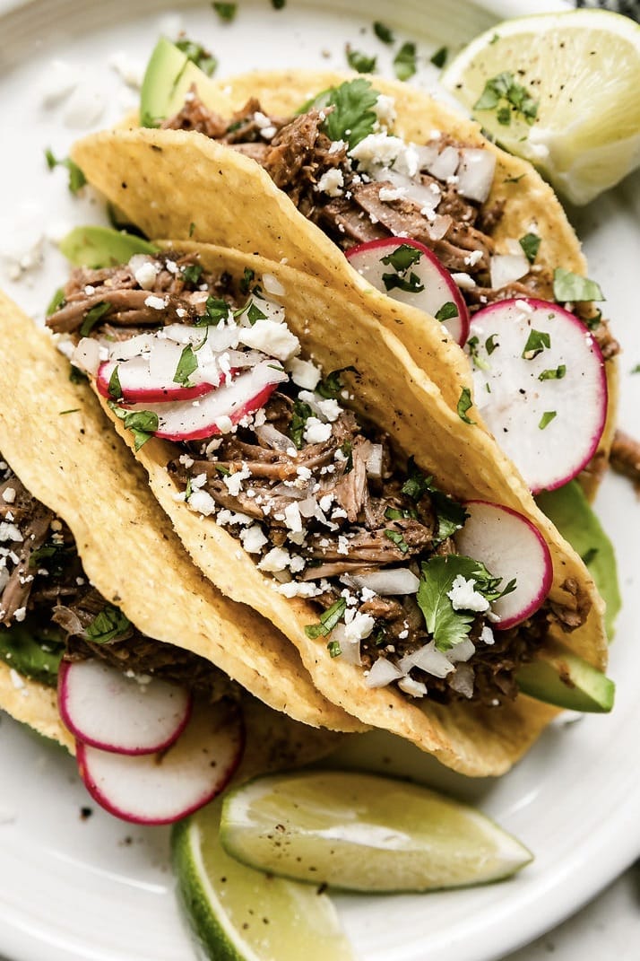
[[[583,282],[580,243],[552,188],[529,163],[409,86],[305,71],[214,82],[166,40],[150,62],[141,114],[143,122],[178,133],[89,136],[73,150],[89,181],[133,223],[149,236],[257,249],[344,290],[398,336],[451,407],[471,380],[469,359],[480,367],[486,357],[479,356],[477,335],[469,337],[469,357],[462,357],[442,324],[411,308],[418,303],[412,290],[423,286],[416,287],[415,257],[426,263],[435,255],[432,268],[453,287],[440,296],[440,309],[438,301],[428,312],[453,325],[461,343],[468,314],[496,301],[572,301],[602,350],[607,386],[596,425],[585,429],[581,456],[565,466],[565,445],[549,446],[558,424],[542,432],[536,419],[527,444],[540,446],[536,464],[553,465],[538,477],[520,457],[522,425],[518,435],[507,436],[484,393],[482,413],[535,492],[580,473],[593,497],[615,427],[618,345],[594,307],[596,286]],[[182,131],[201,136],[185,140]],[[206,202],[194,205],[204,181]],[[172,204],[159,203],[152,185],[171,191]],[[376,295],[340,254],[362,257],[363,245],[383,244],[376,261],[384,257],[388,264],[393,237],[406,240],[414,257],[386,268],[386,289],[408,303]]]

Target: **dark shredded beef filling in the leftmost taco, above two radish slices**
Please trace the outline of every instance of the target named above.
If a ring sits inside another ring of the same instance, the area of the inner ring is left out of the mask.
[[[87,581],[71,531],[27,490],[10,467],[0,481],[2,624],[55,625],[65,656],[99,657],[122,671],[173,680],[211,702],[236,696],[213,664],[142,634]],[[108,633],[100,618],[107,614]],[[37,631],[36,631],[37,632]],[[56,682],[56,678],[52,678]]]

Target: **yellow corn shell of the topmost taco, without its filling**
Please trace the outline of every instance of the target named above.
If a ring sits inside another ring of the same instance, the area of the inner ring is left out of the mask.
[[[249,97],[257,97],[269,113],[290,116],[321,90],[339,86],[353,76],[334,71],[256,71],[213,81],[202,75],[198,92],[209,108],[223,116],[241,109]],[[580,241],[552,187],[530,163],[490,143],[479,124],[415,87],[380,77],[371,78],[371,84],[394,98],[394,133],[398,136],[424,143],[433,130],[440,130],[470,146],[484,146],[496,157],[487,204],[504,203],[503,216],[492,233],[498,252],[510,252],[510,239],[534,230],[542,239],[537,263],[586,273]],[[458,345],[443,336],[441,325],[422,311],[373,290],[255,161],[201,134],[154,130],[88,136],[75,144],[72,157],[88,181],[149,236],[257,250],[344,293],[395,333],[455,409],[462,386],[471,380],[468,360]],[[615,357],[606,361],[606,376],[606,425],[592,469],[581,475],[589,497],[595,496],[615,430]]]

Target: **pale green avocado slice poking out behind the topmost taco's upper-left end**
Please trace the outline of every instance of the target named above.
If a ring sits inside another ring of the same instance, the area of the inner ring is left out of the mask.
[[[140,123],[157,127],[167,117],[178,113],[189,88],[195,84],[198,95],[206,103],[207,75],[171,40],[160,37],[154,46],[140,91]]]

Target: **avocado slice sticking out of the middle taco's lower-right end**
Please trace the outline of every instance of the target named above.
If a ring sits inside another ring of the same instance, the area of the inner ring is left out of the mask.
[[[517,682],[523,694],[568,710],[606,714],[613,707],[613,681],[558,642],[521,667]]]

